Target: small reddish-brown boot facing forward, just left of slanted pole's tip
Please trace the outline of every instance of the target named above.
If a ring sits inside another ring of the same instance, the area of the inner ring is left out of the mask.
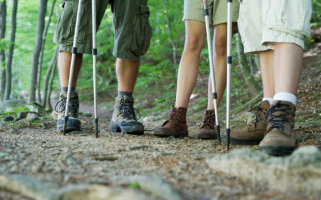
[[[217,139],[215,131],[215,112],[214,110],[205,110],[201,128],[198,131],[199,139]]]

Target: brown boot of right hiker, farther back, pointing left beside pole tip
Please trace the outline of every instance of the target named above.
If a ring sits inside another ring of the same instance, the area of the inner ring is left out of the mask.
[[[230,141],[238,145],[258,145],[264,137],[268,120],[266,116],[270,109],[269,101],[262,101],[260,106],[254,108],[256,110],[255,119],[251,124],[242,130],[231,130]]]

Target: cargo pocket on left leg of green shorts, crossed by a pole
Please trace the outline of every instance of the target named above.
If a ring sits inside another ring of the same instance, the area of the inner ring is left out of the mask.
[[[77,15],[77,1],[65,1],[64,9],[60,13],[57,27],[54,35],[54,42],[62,44],[63,46],[70,45],[73,43],[73,36],[75,32],[76,25],[76,15]],[[88,7],[88,1],[83,3],[83,11],[81,17],[81,24],[79,26],[78,33],[78,43],[84,43],[86,40],[86,30],[87,30],[87,15],[84,13]]]

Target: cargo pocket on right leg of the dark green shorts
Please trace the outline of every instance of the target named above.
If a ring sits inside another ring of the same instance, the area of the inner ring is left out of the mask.
[[[152,28],[149,23],[149,8],[139,5],[139,9],[132,21],[127,49],[136,55],[144,55],[150,45]]]

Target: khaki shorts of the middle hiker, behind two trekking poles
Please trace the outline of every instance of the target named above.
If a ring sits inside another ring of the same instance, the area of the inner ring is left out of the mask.
[[[213,26],[220,23],[227,23],[227,1],[226,0],[208,0],[209,21]],[[238,18],[237,1],[232,3],[232,22],[237,22]],[[184,16],[185,20],[196,20],[205,22],[204,6],[202,0],[185,0],[184,1]]]

